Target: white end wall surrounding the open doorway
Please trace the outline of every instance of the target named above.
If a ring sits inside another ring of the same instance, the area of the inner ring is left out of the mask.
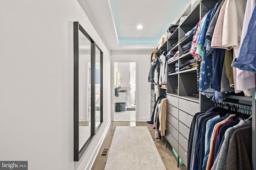
[[[153,51],[153,50],[152,50]],[[150,83],[148,72],[152,51],[112,51],[111,52],[111,80],[114,80],[114,62],[136,62],[136,121],[150,121]],[[114,81],[112,81],[114,82]],[[114,84],[112,84],[114,87]],[[112,119],[114,117],[114,88],[112,94]],[[137,109],[138,108],[138,109]]]

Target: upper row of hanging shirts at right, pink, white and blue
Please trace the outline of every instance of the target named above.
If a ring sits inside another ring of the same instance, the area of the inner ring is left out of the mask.
[[[254,5],[255,0],[248,0],[248,3],[247,0],[220,0],[214,9],[198,22],[190,53],[195,59],[202,60],[200,76],[197,76],[198,91],[201,94],[214,96],[213,100],[219,102],[225,100],[232,92],[243,91],[244,96],[252,96],[251,88],[255,87],[253,71],[239,70],[230,65],[235,65],[237,59],[233,62],[232,60],[238,57],[240,40],[243,42],[249,25],[247,18],[253,16]],[[253,35],[254,33],[250,37]],[[244,51],[250,49],[250,53],[254,49],[248,48],[248,45],[244,48]],[[244,51],[241,54],[244,54]],[[247,57],[248,54],[244,56]],[[248,59],[243,62],[250,64],[247,63]]]

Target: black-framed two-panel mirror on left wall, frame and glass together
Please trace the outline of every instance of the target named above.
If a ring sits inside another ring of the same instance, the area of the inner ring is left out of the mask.
[[[103,122],[103,53],[74,22],[74,161],[78,161]]]

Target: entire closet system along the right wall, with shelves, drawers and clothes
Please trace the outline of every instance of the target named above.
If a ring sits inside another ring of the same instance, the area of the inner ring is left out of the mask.
[[[255,54],[247,47],[254,6],[251,0],[195,3],[152,52],[148,123],[172,147],[177,166],[255,169]],[[158,111],[162,98],[165,113]],[[157,118],[163,114],[164,121]]]

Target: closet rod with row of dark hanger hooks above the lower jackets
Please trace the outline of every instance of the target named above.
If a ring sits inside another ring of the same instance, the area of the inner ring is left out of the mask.
[[[218,102],[214,101],[215,106],[221,107],[223,109],[228,109],[231,111],[236,111],[243,114],[252,115],[252,106],[246,104],[237,104],[237,103],[230,103],[230,102]]]

